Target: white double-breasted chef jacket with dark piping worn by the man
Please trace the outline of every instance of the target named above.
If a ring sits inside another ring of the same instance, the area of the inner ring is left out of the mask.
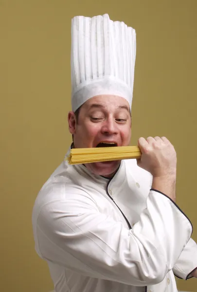
[[[176,292],[197,268],[190,220],[150,190],[150,173],[125,160],[109,180],[64,161],[33,209],[37,254],[56,292]]]

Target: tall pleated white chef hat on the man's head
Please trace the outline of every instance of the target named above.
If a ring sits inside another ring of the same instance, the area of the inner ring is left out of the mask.
[[[124,97],[131,108],[136,33],[109,16],[72,18],[72,110],[97,95]]]

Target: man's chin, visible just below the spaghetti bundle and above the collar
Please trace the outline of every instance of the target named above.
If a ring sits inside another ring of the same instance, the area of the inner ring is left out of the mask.
[[[96,175],[102,175],[110,178],[114,172],[118,169],[121,161],[109,161],[109,162],[95,162],[85,164],[88,169]]]

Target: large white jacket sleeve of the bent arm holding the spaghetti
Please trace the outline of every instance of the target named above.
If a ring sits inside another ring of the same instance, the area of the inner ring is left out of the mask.
[[[92,198],[67,190],[38,215],[39,253],[74,272],[134,286],[160,283],[192,234],[192,225],[165,195],[151,190],[140,220],[129,230],[101,214]]]

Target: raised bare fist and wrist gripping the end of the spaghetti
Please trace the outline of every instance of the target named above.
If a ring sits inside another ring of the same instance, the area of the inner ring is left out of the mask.
[[[177,154],[173,145],[165,137],[140,138],[138,143],[142,156],[137,163],[152,174],[152,188],[175,201]]]

